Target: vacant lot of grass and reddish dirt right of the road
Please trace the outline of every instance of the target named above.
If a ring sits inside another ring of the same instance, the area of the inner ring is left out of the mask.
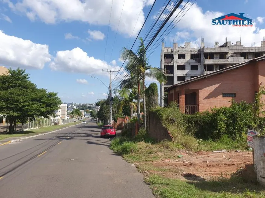
[[[169,141],[123,138],[113,139],[111,149],[136,165],[157,197],[265,197],[265,189],[242,177],[251,151],[188,151]]]

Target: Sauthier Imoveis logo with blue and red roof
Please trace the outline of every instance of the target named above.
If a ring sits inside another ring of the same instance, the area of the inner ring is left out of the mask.
[[[245,13],[230,13],[212,20],[212,25],[232,25],[233,27],[252,27],[252,19],[244,17]]]

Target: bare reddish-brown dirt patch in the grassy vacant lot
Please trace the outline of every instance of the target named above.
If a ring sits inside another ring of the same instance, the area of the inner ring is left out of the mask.
[[[252,164],[252,152],[182,153],[175,159],[161,159],[148,163],[150,173],[168,178],[209,180],[217,176],[229,177],[246,164]],[[147,165],[147,164],[146,164]]]

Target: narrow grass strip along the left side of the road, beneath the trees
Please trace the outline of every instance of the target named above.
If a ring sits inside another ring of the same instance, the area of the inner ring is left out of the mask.
[[[13,137],[25,137],[25,136],[34,136],[34,135],[38,135],[41,133],[47,133],[47,132],[51,132],[51,131],[55,131],[58,129],[63,129],[65,127],[68,126],[73,126],[76,125],[80,122],[71,122],[71,123],[67,123],[64,125],[55,125],[55,126],[48,126],[48,127],[41,127],[39,129],[31,129],[28,131],[20,131],[18,133],[14,133],[14,134],[0,134],[0,140],[2,139],[6,139],[6,138],[13,138]]]

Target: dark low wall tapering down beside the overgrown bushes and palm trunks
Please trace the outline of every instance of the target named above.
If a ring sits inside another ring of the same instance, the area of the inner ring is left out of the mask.
[[[161,120],[155,112],[149,112],[148,132],[149,136],[155,140],[168,139],[173,141],[170,132],[162,126]]]

